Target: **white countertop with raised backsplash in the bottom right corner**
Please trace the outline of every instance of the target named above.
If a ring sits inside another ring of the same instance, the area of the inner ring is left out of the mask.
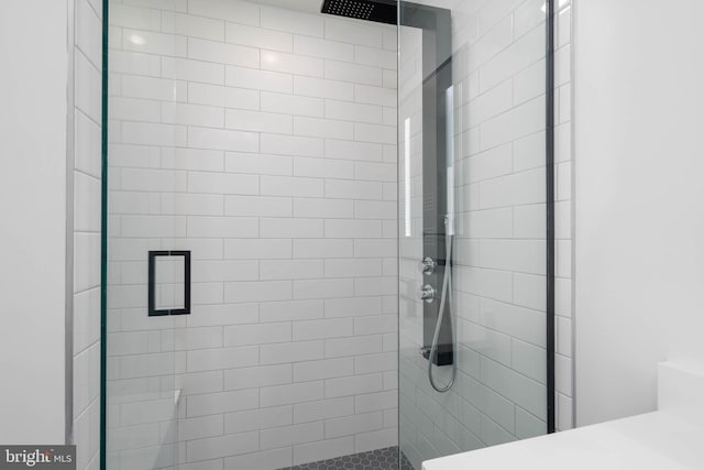
[[[704,427],[667,412],[653,412],[428,460],[422,469],[704,469]]]

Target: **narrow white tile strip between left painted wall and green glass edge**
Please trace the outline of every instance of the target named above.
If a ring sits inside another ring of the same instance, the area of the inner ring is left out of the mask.
[[[74,444],[76,468],[100,468],[102,6],[74,0]],[[123,102],[122,113],[132,112]],[[123,201],[130,204],[131,201]],[[143,347],[139,338],[134,347]],[[120,348],[120,345],[116,345]],[[135,429],[135,435],[142,431]],[[122,436],[117,436],[124,441]]]

